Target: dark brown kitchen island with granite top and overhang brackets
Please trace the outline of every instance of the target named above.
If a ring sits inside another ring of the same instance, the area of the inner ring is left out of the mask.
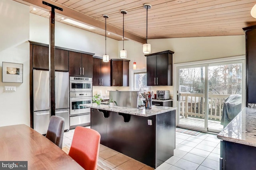
[[[173,156],[176,108],[84,106],[91,108],[91,128],[100,133],[102,145],[153,168]]]

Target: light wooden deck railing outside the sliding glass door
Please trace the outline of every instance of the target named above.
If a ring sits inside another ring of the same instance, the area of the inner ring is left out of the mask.
[[[224,100],[230,95],[209,94],[208,95],[208,118],[220,121]],[[180,115],[185,117],[204,118],[204,94],[181,93],[180,94]]]

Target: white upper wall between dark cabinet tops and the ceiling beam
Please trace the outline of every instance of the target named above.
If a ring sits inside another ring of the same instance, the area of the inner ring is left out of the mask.
[[[49,19],[30,14],[30,41],[49,44]],[[55,24],[55,45],[69,49],[105,54],[105,37],[64,23]],[[107,54],[118,58],[118,41],[107,38]]]

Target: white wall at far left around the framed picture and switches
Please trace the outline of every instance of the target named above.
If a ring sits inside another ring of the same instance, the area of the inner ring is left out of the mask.
[[[0,126],[30,125],[29,7],[1,0],[0,20]],[[23,64],[23,83],[3,83],[2,62]],[[16,92],[4,92],[4,86],[16,86]]]

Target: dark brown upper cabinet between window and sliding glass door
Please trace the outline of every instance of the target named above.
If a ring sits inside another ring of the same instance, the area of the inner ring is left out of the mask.
[[[147,57],[147,86],[172,86],[173,51],[162,51]]]

